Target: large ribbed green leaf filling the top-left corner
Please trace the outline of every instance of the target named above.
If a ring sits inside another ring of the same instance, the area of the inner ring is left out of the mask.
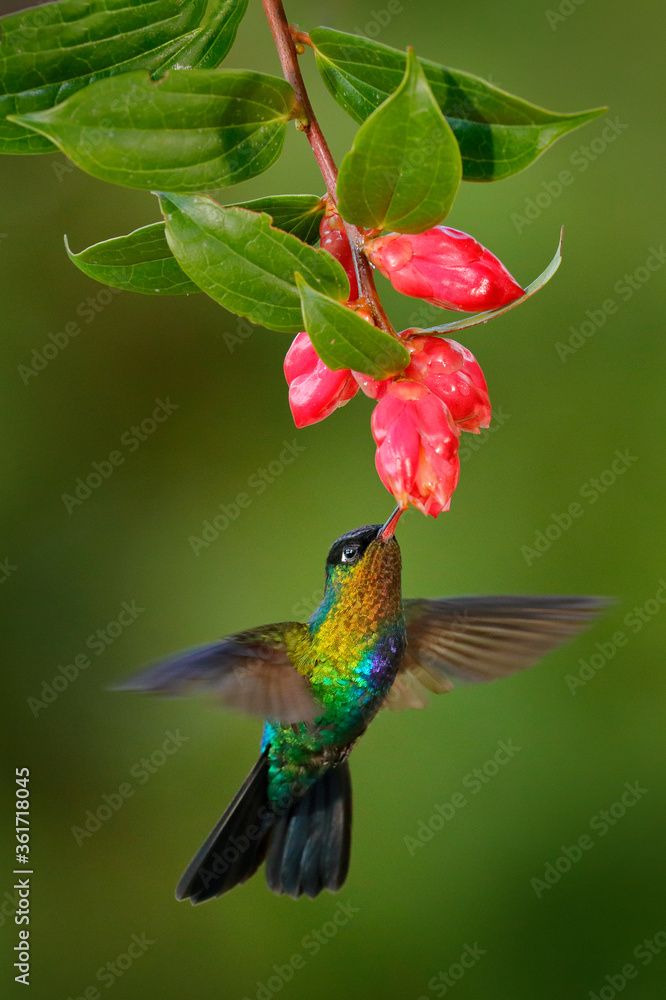
[[[58,0],[0,18],[0,153],[52,153],[6,120],[59,104],[89,83],[144,69],[212,69],[248,0]]]

